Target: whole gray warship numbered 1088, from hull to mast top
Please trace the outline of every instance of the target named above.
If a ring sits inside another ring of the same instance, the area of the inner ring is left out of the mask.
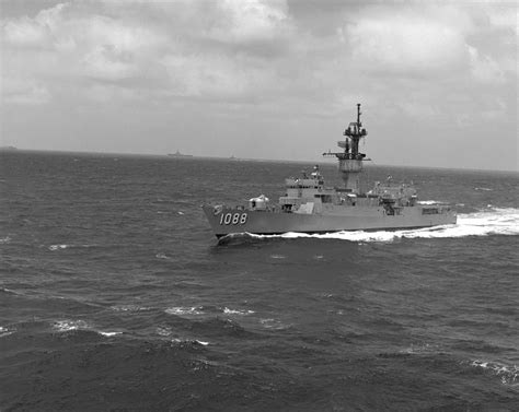
[[[342,150],[323,153],[338,160],[342,187],[325,186],[315,166],[310,176],[303,173],[299,178],[285,179],[286,193],[277,204],[270,204],[264,195],[235,207],[204,204],[215,235],[388,231],[455,224],[457,215],[449,204],[420,204],[413,185],[394,184],[391,177],[361,192],[359,177],[368,158],[359,152],[359,142],[368,133],[360,115],[357,104],[357,121],[349,123],[344,140],[337,142]]]

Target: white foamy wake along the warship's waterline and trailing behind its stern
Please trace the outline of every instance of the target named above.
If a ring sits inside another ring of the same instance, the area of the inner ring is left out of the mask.
[[[461,213],[455,225],[442,225],[417,229],[378,231],[378,232],[336,232],[327,234],[304,234],[289,232],[282,235],[251,235],[258,238],[322,238],[350,242],[393,242],[399,238],[455,238],[466,236],[519,235],[519,209],[495,208],[475,213]]]

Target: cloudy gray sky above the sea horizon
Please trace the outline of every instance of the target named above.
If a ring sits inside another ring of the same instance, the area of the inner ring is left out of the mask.
[[[518,169],[512,1],[0,4],[1,145]]]

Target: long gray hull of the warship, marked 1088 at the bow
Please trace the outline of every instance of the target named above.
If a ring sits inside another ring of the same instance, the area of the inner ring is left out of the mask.
[[[394,215],[385,214],[383,208],[336,208],[311,214],[211,205],[203,209],[217,237],[244,232],[275,235],[287,232],[390,231],[455,224],[457,221],[450,210],[424,214],[422,207],[402,208],[400,214]]]

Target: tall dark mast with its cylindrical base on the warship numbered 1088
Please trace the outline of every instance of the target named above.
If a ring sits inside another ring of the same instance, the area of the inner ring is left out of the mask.
[[[362,162],[365,153],[359,152],[360,139],[368,136],[366,129],[362,129],[360,121],[360,103],[357,104],[357,121],[351,121],[344,131],[345,139],[337,142],[337,145],[344,149],[344,152],[323,153],[324,156],[336,156],[338,158],[338,170],[342,174],[346,191],[359,193],[359,177],[362,172]]]

